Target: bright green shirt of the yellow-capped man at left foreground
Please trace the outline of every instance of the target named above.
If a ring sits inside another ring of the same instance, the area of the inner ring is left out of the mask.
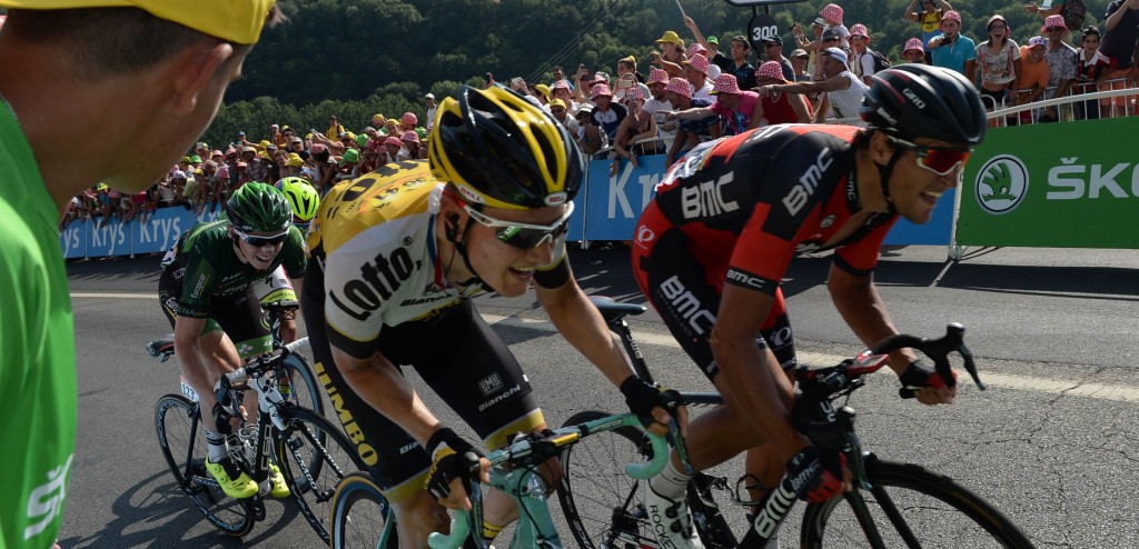
[[[75,335],[59,212],[0,100],[0,549],[51,547],[75,450]]]

